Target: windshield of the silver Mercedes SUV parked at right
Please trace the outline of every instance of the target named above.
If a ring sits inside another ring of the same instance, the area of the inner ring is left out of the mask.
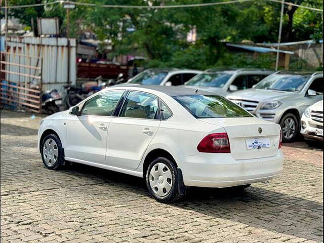
[[[299,92],[307,83],[309,76],[297,74],[274,74],[264,78],[254,88],[262,90],[280,90]]]

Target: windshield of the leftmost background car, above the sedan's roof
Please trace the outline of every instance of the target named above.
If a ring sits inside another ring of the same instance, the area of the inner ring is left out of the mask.
[[[159,85],[167,74],[168,72],[166,71],[145,70],[135,76],[130,83],[139,85]]]

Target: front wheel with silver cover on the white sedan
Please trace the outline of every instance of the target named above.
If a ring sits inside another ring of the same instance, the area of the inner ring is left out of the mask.
[[[58,170],[64,165],[62,143],[55,134],[47,135],[41,146],[41,156],[45,167]]]

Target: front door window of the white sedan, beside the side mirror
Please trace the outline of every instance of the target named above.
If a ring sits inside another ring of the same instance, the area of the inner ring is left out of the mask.
[[[87,100],[81,111],[81,115],[112,116],[124,90],[109,91],[96,95]]]

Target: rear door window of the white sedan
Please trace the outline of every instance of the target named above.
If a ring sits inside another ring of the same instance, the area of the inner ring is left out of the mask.
[[[131,91],[120,110],[120,117],[156,119],[157,97],[151,94]]]

